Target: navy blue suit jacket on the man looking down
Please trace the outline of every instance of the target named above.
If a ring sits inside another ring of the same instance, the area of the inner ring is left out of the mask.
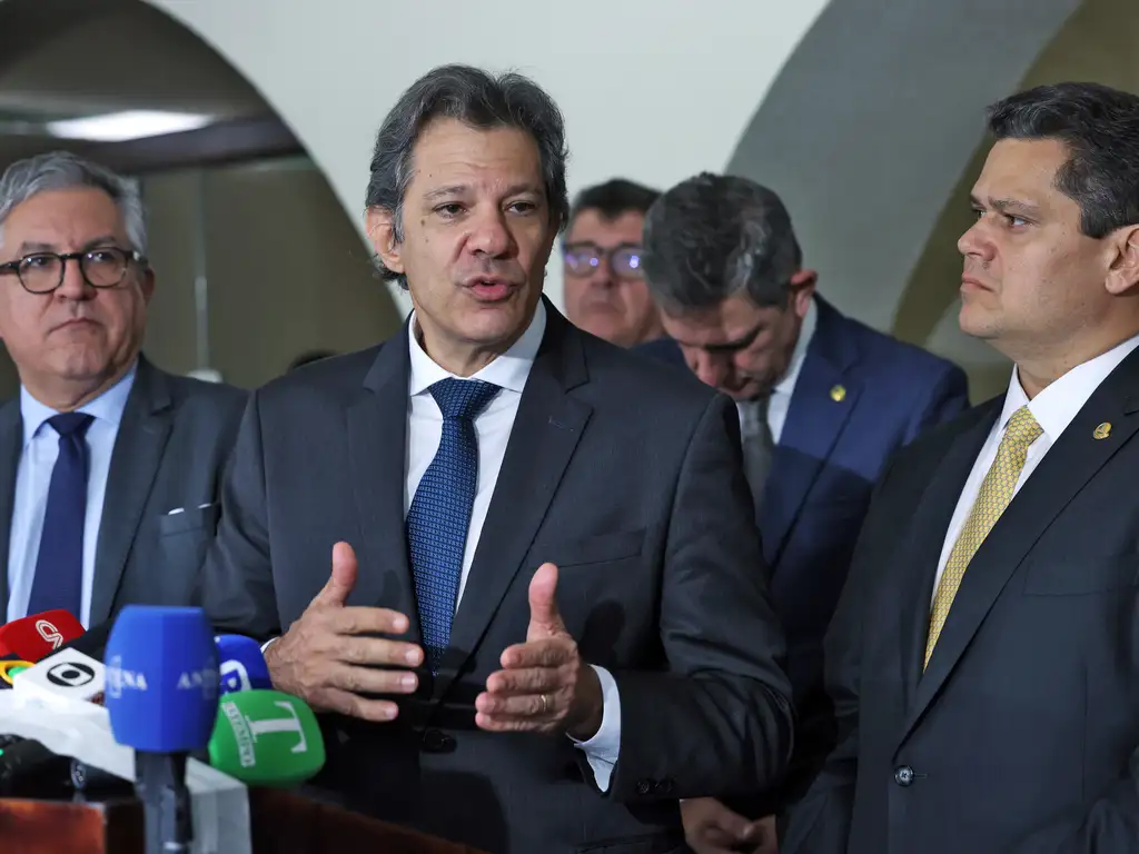
[[[874,484],[900,447],[968,407],[960,368],[843,317],[820,297],[816,303],[818,325],[759,516],[771,598],[787,633],[787,672],[798,714],[795,759],[776,803],[734,804],[752,814],[801,795],[834,747],[822,690],[822,638]],[[685,366],[670,338],[638,350]]]

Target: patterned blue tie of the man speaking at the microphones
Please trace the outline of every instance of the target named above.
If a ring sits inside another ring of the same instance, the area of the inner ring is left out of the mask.
[[[435,673],[451,639],[478,481],[475,417],[499,387],[477,379],[443,379],[429,391],[443,413],[443,436],[408,510],[408,551],[424,648]]]

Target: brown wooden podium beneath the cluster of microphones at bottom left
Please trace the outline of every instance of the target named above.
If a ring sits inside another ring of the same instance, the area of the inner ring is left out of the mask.
[[[481,854],[278,789],[249,789],[249,823],[253,854]],[[21,854],[145,854],[142,805],[0,799],[0,847]]]

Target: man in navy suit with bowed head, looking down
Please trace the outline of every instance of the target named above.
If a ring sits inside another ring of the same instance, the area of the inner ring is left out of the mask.
[[[966,379],[819,296],[782,202],[747,179],[705,173],[665,192],[644,260],[670,338],[641,350],[687,364],[739,410],[797,712],[781,790],[732,808],[687,800],[685,828],[697,854],[773,851],[771,819],[755,820],[801,795],[834,741],[822,639],[874,484],[895,451],[967,408]]]

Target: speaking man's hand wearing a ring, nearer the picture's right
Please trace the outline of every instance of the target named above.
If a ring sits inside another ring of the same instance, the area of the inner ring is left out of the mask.
[[[526,642],[502,652],[502,670],[475,699],[475,724],[491,732],[568,733],[588,741],[601,726],[597,672],[581,660],[558,614],[558,568],[542,564],[530,582]]]

